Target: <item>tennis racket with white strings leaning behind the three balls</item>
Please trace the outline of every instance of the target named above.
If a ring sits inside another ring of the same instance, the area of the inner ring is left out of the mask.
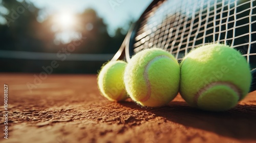
[[[127,62],[137,52],[156,46],[181,61],[207,43],[226,43],[247,59],[256,90],[256,1],[155,0],[127,33],[112,61]]]

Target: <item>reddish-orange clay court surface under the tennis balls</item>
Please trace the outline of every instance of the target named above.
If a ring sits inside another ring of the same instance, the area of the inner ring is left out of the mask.
[[[0,142],[256,142],[256,92],[225,112],[189,107],[180,96],[145,108],[104,99],[96,78],[49,75],[30,92],[34,74],[0,74],[9,87],[8,139],[1,117]]]

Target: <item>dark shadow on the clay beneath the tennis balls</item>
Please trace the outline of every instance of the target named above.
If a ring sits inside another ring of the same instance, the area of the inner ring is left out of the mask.
[[[185,102],[149,110],[168,121],[237,139],[255,139],[256,105],[237,105],[223,112],[202,111]]]

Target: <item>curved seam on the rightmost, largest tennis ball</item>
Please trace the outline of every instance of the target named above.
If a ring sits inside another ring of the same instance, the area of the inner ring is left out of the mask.
[[[217,82],[211,82],[207,85],[205,85],[204,87],[200,88],[198,90],[198,92],[196,93],[196,96],[194,97],[194,103],[197,105],[198,103],[198,98],[204,93],[206,92],[208,89],[214,87],[214,86],[218,86],[218,85],[224,85],[224,86],[227,86],[229,87],[230,89],[232,89],[234,92],[237,93],[237,96],[239,98],[239,101],[242,99],[243,97],[243,94],[242,94],[242,90],[237,86],[237,85],[234,85],[230,82],[224,82],[224,81],[217,81]]]

